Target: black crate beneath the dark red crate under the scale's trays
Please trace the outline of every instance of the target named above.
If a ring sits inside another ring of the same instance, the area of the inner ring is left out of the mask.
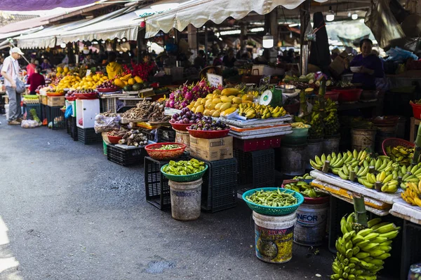
[[[262,188],[275,185],[274,149],[243,152],[234,149],[239,165],[238,184],[241,188]]]

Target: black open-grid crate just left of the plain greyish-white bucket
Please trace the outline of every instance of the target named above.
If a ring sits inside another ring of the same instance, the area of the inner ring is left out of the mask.
[[[171,194],[168,179],[161,173],[161,167],[168,161],[145,157],[145,194],[146,201],[158,209],[171,209]]]

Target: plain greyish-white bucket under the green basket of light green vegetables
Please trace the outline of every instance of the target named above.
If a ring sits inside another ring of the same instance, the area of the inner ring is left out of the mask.
[[[171,214],[178,221],[199,218],[201,209],[202,179],[192,182],[168,181],[171,193]]]

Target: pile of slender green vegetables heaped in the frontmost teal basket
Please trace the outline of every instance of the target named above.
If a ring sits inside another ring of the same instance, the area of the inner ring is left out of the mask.
[[[278,190],[258,190],[253,195],[248,195],[246,200],[270,207],[288,207],[297,204],[297,198],[294,195],[279,188]]]

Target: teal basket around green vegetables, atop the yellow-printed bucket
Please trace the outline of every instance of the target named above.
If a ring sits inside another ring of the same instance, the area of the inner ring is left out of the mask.
[[[294,195],[294,197],[297,198],[297,204],[287,206],[287,207],[271,207],[271,206],[255,204],[254,202],[250,202],[249,200],[246,199],[246,197],[253,195],[253,193],[260,190],[265,190],[265,191],[278,190],[278,188],[254,188],[253,190],[248,190],[246,191],[246,193],[243,193],[243,200],[246,202],[248,207],[250,207],[250,209],[252,209],[258,214],[269,215],[269,216],[289,215],[293,213],[295,210],[297,210],[298,207],[300,207],[300,205],[302,204],[302,202],[304,202],[304,197],[300,193],[297,193],[295,190],[288,190],[288,189],[283,189],[283,188],[279,188],[279,191]]]

